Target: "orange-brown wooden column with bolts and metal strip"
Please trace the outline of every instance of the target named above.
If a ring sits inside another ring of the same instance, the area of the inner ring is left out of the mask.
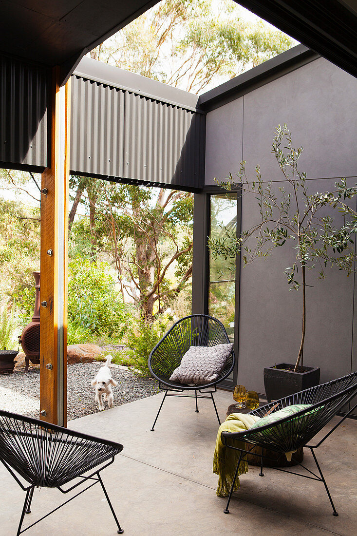
[[[51,167],[42,174],[40,418],[67,421],[67,258],[70,80],[53,71]]]

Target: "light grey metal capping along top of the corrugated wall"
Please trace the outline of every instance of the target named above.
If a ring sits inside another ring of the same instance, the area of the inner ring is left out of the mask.
[[[94,80],[110,87],[117,87],[123,91],[130,91],[136,95],[165,102],[185,110],[199,111],[197,110],[198,95],[113,65],[101,63],[96,59],[82,58],[73,75]]]

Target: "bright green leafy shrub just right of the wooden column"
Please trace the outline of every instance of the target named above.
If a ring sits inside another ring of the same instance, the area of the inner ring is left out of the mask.
[[[120,341],[130,324],[130,306],[116,291],[107,263],[77,258],[69,263],[68,342]]]

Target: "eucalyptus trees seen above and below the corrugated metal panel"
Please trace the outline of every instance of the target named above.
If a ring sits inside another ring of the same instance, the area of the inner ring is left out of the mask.
[[[102,43],[91,56],[198,93],[212,81],[232,78],[247,65],[257,65],[293,44],[263,22],[245,21],[233,2],[166,0]],[[103,190],[93,180],[90,194],[88,179],[72,177],[71,181],[76,193],[70,225],[78,203],[86,204],[92,245],[110,249],[123,296],[131,295],[144,317],[152,318],[154,304],[161,311],[191,277],[192,196],[163,189],[108,188],[108,183]],[[167,277],[172,265],[175,284]]]

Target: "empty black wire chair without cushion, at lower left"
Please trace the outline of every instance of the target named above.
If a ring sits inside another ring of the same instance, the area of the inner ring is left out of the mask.
[[[0,461],[26,492],[17,535],[27,531],[28,528],[33,527],[98,482],[114,516],[118,527],[117,532],[122,534],[124,531],[118,522],[99,474],[113,463],[114,457],[122,450],[123,445],[119,443],[0,410]],[[85,475],[88,472],[90,474]],[[25,483],[19,477],[24,479]],[[80,479],[79,482],[74,483],[68,489],[63,489],[63,486],[77,478]],[[90,481],[90,485],[77,495],[21,530],[25,513],[31,512],[35,487],[57,488],[65,494],[80,484]]]

